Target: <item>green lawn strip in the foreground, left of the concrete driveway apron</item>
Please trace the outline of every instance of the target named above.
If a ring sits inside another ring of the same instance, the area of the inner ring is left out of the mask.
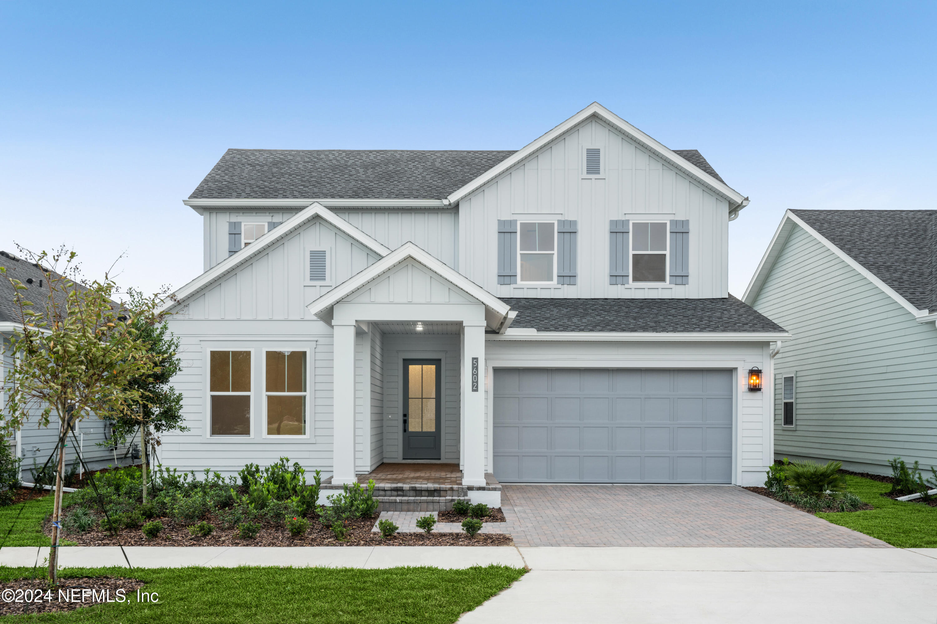
[[[30,568],[0,568],[0,584],[27,576]],[[146,582],[143,591],[159,594],[154,603],[110,603],[68,614],[10,616],[8,622],[133,622],[231,624],[384,624],[449,623],[520,578],[523,570],[506,566],[439,570],[394,568],[124,568],[76,569],[74,576],[132,576]],[[135,595],[131,595],[134,601]]]

